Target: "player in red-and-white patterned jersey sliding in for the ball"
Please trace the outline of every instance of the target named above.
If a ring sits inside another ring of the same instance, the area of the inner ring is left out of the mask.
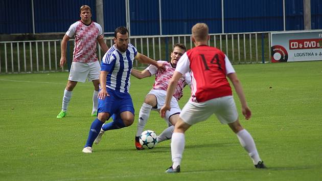
[[[139,138],[141,133],[143,132],[143,128],[146,125],[149,116],[150,111],[155,110],[159,111],[160,108],[165,103],[165,98],[167,95],[167,88],[169,85],[169,82],[171,80],[171,77],[173,76],[173,73],[175,71],[175,67],[177,65],[178,60],[180,57],[186,52],[186,46],[181,43],[177,43],[173,46],[173,51],[171,52],[171,61],[162,61],[159,60],[158,62],[162,62],[166,69],[165,70],[158,70],[156,66],[150,65],[148,66],[144,71],[137,71],[135,69],[132,69],[131,74],[139,79],[143,79],[146,77],[151,77],[152,75],[155,75],[155,82],[153,84],[152,90],[147,94],[147,96],[144,99],[144,103],[141,106],[140,114],[139,114],[139,122],[137,124],[137,131],[135,135],[135,147],[138,150],[144,149],[140,142]],[[190,74],[183,75],[177,85],[176,90],[171,98],[171,111],[166,112],[166,116],[164,120],[166,121],[167,125],[169,126],[166,128],[162,133],[160,133],[157,137],[158,142],[162,142],[165,140],[169,140],[172,137],[172,133],[174,130],[175,121],[178,119],[179,114],[181,112],[181,109],[178,104],[178,100],[183,96],[183,87],[185,87],[187,84],[190,85],[191,82],[191,76]]]

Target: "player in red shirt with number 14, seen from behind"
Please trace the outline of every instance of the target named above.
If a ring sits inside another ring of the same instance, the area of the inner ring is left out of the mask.
[[[160,109],[160,116],[165,117],[166,111],[171,108],[171,97],[175,92],[178,80],[182,75],[190,72],[192,76],[191,98],[183,107],[175,124],[171,141],[173,165],[166,172],[180,172],[186,130],[193,124],[205,121],[213,114],[222,124],[228,124],[237,134],[241,145],[248,152],[255,167],[266,168],[260,159],[254,140],[241,126],[238,119],[232,88],[226,77],[232,81],[235,87],[246,120],[250,118],[251,111],[247,106],[237,74],[226,55],[222,51],[208,46],[208,40],[209,34],[206,24],[198,23],[192,27],[192,41],[195,48],[188,50],[180,58],[168,86],[166,103]]]

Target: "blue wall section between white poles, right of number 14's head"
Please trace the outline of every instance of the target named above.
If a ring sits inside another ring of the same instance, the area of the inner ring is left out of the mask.
[[[224,7],[226,33],[283,30],[283,2],[280,0],[248,0],[247,3],[225,0]]]

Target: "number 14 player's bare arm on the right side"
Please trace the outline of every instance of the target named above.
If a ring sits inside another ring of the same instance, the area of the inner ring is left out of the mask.
[[[248,120],[251,117],[251,111],[247,105],[246,98],[244,95],[243,87],[241,86],[241,83],[237,77],[236,73],[228,74],[227,77],[229,80],[232,81],[234,88],[236,90],[236,93],[238,95],[238,98],[240,100],[241,106],[242,106],[242,113],[245,116],[245,119]]]

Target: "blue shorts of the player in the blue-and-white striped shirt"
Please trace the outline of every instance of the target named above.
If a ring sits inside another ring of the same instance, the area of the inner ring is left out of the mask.
[[[107,88],[109,96],[105,99],[99,99],[98,113],[108,112],[109,115],[120,115],[121,112],[130,111],[134,115],[134,106],[131,95],[128,93],[120,93]]]

